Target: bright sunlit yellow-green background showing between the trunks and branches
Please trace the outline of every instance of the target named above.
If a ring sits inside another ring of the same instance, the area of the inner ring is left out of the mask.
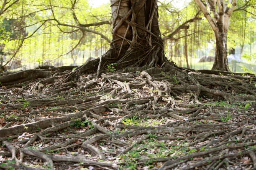
[[[31,13],[45,7],[45,2],[38,0],[24,0],[23,13]],[[41,2],[41,6],[39,4]],[[54,13],[60,23],[76,25],[70,5],[70,0],[52,0]],[[160,0],[159,27],[162,37],[172,33],[179,25],[194,18],[198,11],[197,5],[191,0]],[[17,9],[21,11],[22,9]],[[79,0],[75,6],[75,13],[82,24],[97,23],[111,20],[110,0]],[[18,12],[22,13],[22,12]],[[11,11],[5,17],[17,16]],[[189,66],[193,69],[211,69],[215,56],[215,37],[205,17],[189,23],[187,29],[187,53]],[[40,25],[38,20],[52,18],[51,10],[38,12],[27,17],[26,35],[31,35]],[[15,21],[15,20],[13,20]],[[6,23],[10,19],[5,20]],[[38,22],[38,23],[36,23]],[[36,24],[35,24],[36,23]],[[74,27],[57,27],[53,21],[45,23],[33,36],[23,42],[14,60],[8,64],[10,70],[32,69],[40,65],[82,65],[87,60],[100,57],[109,49],[112,40],[109,24],[88,27],[82,38],[82,32]],[[60,29],[62,31],[60,31]],[[93,33],[94,32],[94,33]],[[95,34],[97,32],[98,34]],[[100,34],[106,38],[102,38]],[[253,15],[238,11],[231,15],[228,31],[228,53],[231,71],[256,73],[256,21]],[[82,38],[82,39],[81,39]],[[80,41],[81,40],[81,41]],[[3,42],[3,41],[2,41]],[[17,48],[18,40],[4,42],[4,61],[8,61]],[[78,45],[77,45],[78,44]],[[165,55],[177,65],[186,67],[184,55],[185,31],[180,30],[173,39],[165,42]],[[74,48],[75,47],[75,48]],[[233,52],[231,52],[233,47]],[[74,50],[72,50],[74,48]],[[233,61],[232,61],[233,60]]]

